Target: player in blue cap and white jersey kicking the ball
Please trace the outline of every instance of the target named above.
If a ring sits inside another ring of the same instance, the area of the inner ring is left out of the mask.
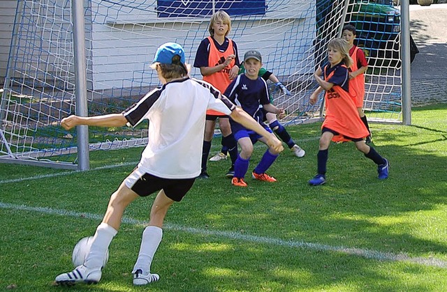
[[[181,201],[200,174],[203,132],[207,109],[229,115],[244,127],[256,131],[274,151],[281,152],[281,141],[266,131],[242,109],[236,107],[213,86],[188,76],[183,48],[177,43],[161,45],[152,68],[163,84],[147,93],[121,114],[103,116],[68,116],[61,121],[66,129],[76,125],[135,127],[149,120],[149,139],[140,163],[110,197],[103,221],[96,229],[90,252],[81,266],[58,275],[57,284],[97,283],[108,247],[118,232],[126,207],[138,197],[158,192],[152,204],[149,224],[142,233],[133,284],[145,285],[159,280],[150,270],[156,249],[161,243],[162,226],[168,208]]]

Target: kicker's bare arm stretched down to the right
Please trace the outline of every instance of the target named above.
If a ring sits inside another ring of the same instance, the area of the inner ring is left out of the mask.
[[[262,135],[266,140],[268,146],[272,147],[278,153],[284,150],[281,141],[270,132],[267,132],[257,121],[254,120],[247,112],[244,112],[240,107],[235,107],[231,112],[230,117],[237,123],[240,123],[245,128],[254,130],[259,135]]]

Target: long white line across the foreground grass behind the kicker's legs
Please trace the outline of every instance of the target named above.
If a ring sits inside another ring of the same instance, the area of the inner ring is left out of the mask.
[[[12,210],[22,210],[27,212],[37,212],[45,213],[50,215],[61,215],[67,217],[78,217],[87,218],[91,220],[102,220],[103,216],[92,213],[78,213],[63,209],[52,209],[45,207],[30,207],[25,205],[16,205],[12,203],[2,203],[0,202],[0,208],[12,209]],[[130,217],[123,217],[122,222],[124,224],[134,224],[145,226],[147,222],[142,220],[135,220]],[[416,263],[423,266],[437,267],[437,268],[447,268],[447,261],[434,258],[424,258],[424,257],[411,257],[407,254],[394,254],[392,252],[379,252],[374,249],[360,249],[355,247],[343,247],[343,246],[332,246],[332,245],[321,245],[319,243],[306,243],[304,241],[293,241],[293,240],[282,240],[280,238],[270,238],[265,236],[251,236],[248,234],[242,234],[238,232],[231,231],[217,231],[209,229],[198,229],[193,227],[187,227],[177,224],[165,224],[164,229],[173,231],[182,231],[187,233],[199,234],[200,236],[217,236],[221,238],[228,238],[232,240],[242,240],[251,243],[259,243],[265,245],[279,245],[283,247],[291,248],[302,248],[311,249],[322,252],[342,252],[344,254],[349,254],[353,256],[361,256],[366,259],[373,259],[377,261],[399,261],[406,263]]]

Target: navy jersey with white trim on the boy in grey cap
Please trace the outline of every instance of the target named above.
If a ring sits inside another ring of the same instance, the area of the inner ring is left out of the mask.
[[[263,123],[264,114],[259,105],[268,105],[270,99],[268,96],[267,83],[261,77],[256,80],[249,79],[245,74],[237,77],[228,85],[225,95],[235,105],[244,109],[258,123]],[[244,127],[230,119],[231,130],[237,132]]]

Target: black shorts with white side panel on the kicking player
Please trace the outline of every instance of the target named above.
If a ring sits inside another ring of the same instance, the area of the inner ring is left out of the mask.
[[[135,169],[124,183],[140,197],[163,190],[166,197],[178,202],[191,190],[195,180],[196,178],[159,178],[147,173],[141,175],[138,169]]]

